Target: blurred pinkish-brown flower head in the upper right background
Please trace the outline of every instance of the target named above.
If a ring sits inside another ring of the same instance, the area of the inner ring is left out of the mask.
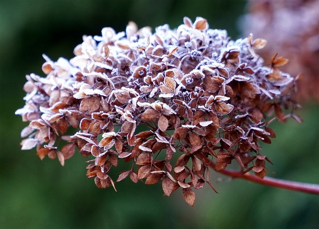
[[[258,54],[266,60],[274,52],[289,57],[289,66],[282,70],[293,76],[302,74],[297,98],[319,101],[319,1],[250,0],[249,11],[242,30],[271,43]]]

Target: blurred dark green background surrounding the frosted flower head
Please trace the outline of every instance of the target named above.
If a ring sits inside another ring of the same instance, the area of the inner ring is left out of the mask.
[[[229,181],[214,173],[209,188],[196,191],[194,207],[181,190],[162,196],[161,185],[130,180],[98,189],[85,177],[79,154],[62,167],[41,161],[35,150],[21,151],[20,131],[27,125],[14,111],[23,107],[25,75],[44,76],[42,53],[52,60],[72,58],[82,35],[100,35],[103,27],[124,31],[129,20],[139,27],[168,23],[183,16],[206,18],[211,28],[238,38],[237,21],[246,11],[241,0],[0,0],[0,228],[1,229],[318,229],[319,197]],[[245,34],[247,35],[247,34]],[[270,44],[269,44],[270,45]],[[264,146],[273,161],[272,177],[319,183],[319,106],[303,104],[294,120],[274,123],[277,138]],[[121,170],[121,168],[119,168]],[[116,179],[116,178],[115,178]]]

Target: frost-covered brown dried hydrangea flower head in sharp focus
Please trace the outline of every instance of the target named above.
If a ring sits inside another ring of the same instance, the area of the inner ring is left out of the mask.
[[[275,137],[271,115],[298,118],[282,111],[296,107],[295,80],[277,69],[287,60],[275,55],[264,66],[254,49],[266,41],[252,35],[233,41],[204,18],[185,17],[174,30],[152,34],[130,22],[126,33],[103,28],[83,40],[69,61],[44,56],[47,76],[26,76],[26,105],[16,114],[30,122],[22,149],[36,146],[41,159],[57,156],[63,165],[77,147],[94,157],[87,177],[99,188],[115,188],[109,171],[123,160],[132,166],[116,181],[161,181],[166,196],[181,187],[193,205],[191,188],[215,190],[207,159],[216,170],[235,160],[263,178],[270,161],[259,141]]]

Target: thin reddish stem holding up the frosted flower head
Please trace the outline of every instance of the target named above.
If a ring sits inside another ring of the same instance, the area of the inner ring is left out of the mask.
[[[213,162],[211,162],[208,158],[205,158],[205,161],[207,165],[215,169],[215,164]],[[305,193],[312,193],[312,194],[319,195],[319,185],[317,184],[287,181],[287,180],[281,180],[281,179],[271,178],[271,177],[264,177],[263,179],[261,179],[250,173],[243,174],[240,171],[229,170],[229,169],[224,169],[217,172],[222,173],[226,176],[230,176],[232,178],[248,180],[248,181],[255,182],[262,185],[268,185],[268,186],[273,186],[276,188],[289,189],[289,190],[294,190],[298,192],[305,192]]]

